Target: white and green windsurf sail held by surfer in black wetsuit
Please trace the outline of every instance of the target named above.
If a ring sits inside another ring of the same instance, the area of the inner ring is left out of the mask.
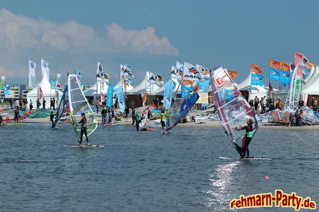
[[[78,83],[77,75],[69,74],[68,76],[68,96],[69,105],[71,111],[71,117],[74,124],[75,133],[80,139],[81,136],[81,113],[85,113],[85,118],[87,119],[87,135],[91,135],[93,131],[98,127],[98,122],[95,119],[92,108],[89,105],[87,99],[85,98],[81,86]],[[83,135],[83,138],[84,135]]]

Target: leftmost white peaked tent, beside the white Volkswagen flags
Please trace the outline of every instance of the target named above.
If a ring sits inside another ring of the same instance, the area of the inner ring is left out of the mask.
[[[48,77],[44,73],[41,79],[41,82],[39,83],[41,90],[42,90],[42,99],[40,99],[41,106],[40,108],[43,108],[43,98],[46,100],[46,108],[50,108],[50,98],[56,97],[56,92],[58,92],[59,99],[61,99],[62,92],[56,89],[51,89],[51,83],[48,81]],[[33,102],[33,107],[36,108],[35,101],[38,99],[38,88],[37,86],[33,88],[31,91],[29,91],[26,94],[26,98],[28,102],[30,103],[30,100]],[[56,99],[59,100],[59,99]],[[56,105],[55,105],[56,106]]]

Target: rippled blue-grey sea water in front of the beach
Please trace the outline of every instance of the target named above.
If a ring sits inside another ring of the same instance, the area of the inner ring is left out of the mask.
[[[226,211],[275,189],[319,203],[319,132],[259,130],[250,155],[273,160],[237,161],[219,158],[239,156],[222,129],[101,126],[89,139],[105,147],[72,148],[71,125],[49,127],[0,126],[1,211]],[[238,211],[269,210],[294,208]]]

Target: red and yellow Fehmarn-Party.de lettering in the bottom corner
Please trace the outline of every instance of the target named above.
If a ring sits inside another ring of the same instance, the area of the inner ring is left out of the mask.
[[[297,196],[294,192],[286,194],[282,190],[275,190],[275,196],[272,196],[271,193],[255,194],[246,197],[241,195],[240,199],[230,201],[229,207],[230,209],[272,207],[273,202],[275,207],[292,207],[295,208],[295,211],[299,211],[300,208],[316,209],[316,203],[311,201],[310,197],[303,200],[302,197]]]

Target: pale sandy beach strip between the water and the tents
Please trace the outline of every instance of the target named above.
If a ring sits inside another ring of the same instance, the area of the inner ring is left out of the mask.
[[[192,115],[198,115],[198,113],[189,113],[188,116]],[[95,115],[96,119],[100,123],[101,121],[101,115]],[[13,116],[9,116],[9,118],[13,118]],[[116,122],[124,122],[123,125],[135,127],[135,125],[132,125],[132,119],[129,119],[130,121],[125,122],[125,119],[123,121],[115,121]],[[5,120],[4,120],[5,121]],[[50,124],[50,118],[26,118],[25,120],[21,121],[23,122],[41,122],[41,123],[48,123]],[[151,121],[148,125],[155,123]],[[71,122],[59,122],[60,124],[71,124]],[[205,119],[205,120],[198,120],[197,122],[193,123],[183,123],[176,125],[175,128],[222,128],[220,121],[212,121],[211,119]],[[288,127],[288,125],[285,124],[275,124],[275,123],[261,123],[259,126],[259,129],[270,129],[270,130],[294,130],[294,131],[318,131],[319,125],[303,125],[301,127]]]

